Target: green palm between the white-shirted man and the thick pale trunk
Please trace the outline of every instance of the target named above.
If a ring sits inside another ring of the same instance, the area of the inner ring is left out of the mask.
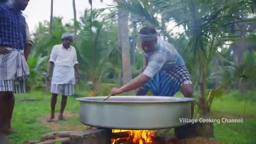
[[[114,50],[117,50],[117,28],[105,28],[105,21],[97,20],[101,12],[100,10],[85,11],[84,17],[81,19],[81,33],[78,34],[77,39],[77,57],[80,61],[80,69],[83,71],[83,77],[87,77],[92,82],[94,96],[99,94],[98,87],[103,77],[108,74],[107,68],[115,65],[115,61],[118,62],[118,59],[113,60],[113,57],[109,57],[111,53],[111,55],[114,54]],[[114,56],[117,55],[118,53]],[[109,59],[112,59],[111,63]]]

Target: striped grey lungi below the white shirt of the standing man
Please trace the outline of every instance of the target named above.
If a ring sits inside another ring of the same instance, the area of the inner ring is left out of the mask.
[[[51,84],[51,93],[61,94],[65,96],[74,94],[73,84]]]

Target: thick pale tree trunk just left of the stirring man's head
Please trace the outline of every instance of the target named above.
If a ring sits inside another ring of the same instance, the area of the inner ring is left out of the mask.
[[[128,29],[128,14],[119,10],[118,25],[122,46],[122,65],[123,65],[123,84],[131,81],[131,64],[130,64],[130,45],[129,45],[129,29]]]

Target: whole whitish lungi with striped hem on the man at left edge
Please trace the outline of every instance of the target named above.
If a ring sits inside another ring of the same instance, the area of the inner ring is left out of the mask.
[[[25,93],[29,67],[23,50],[5,47],[9,54],[0,54],[0,92]]]

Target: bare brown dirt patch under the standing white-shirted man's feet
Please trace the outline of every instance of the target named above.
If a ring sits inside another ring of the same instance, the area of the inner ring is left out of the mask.
[[[59,121],[58,113],[55,113],[55,119],[53,119],[52,122],[48,123],[46,121],[49,116],[50,114],[46,117],[39,117],[38,120],[41,121],[45,125],[45,127],[53,131],[85,131],[89,129],[89,126],[83,125],[81,123],[74,124],[69,121],[69,118],[77,117],[77,121],[79,122],[79,115],[72,111],[64,111],[64,116],[67,119],[66,121]]]

